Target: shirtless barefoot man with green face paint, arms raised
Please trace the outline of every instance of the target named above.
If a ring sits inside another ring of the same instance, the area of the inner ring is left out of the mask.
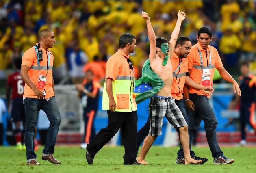
[[[190,156],[189,150],[189,135],[187,123],[180,112],[174,99],[171,98],[171,84],[172,84],[172,65],[171,56],[174,52],[174,47],[180,32],[181,22],[185,19],[184,12],[178,12],[178,19],[176,26],[171,34],[171,39],[168,41],[163,37],[157,37],[150,23],[150,17],[145,12],[141,13],[145,19],[148,28],[148,38],[150,41],[150,68],[161,78],[164,82],[163,88],[150,98],[149,104],[149,119],[150,130],[148,136],[143,142],[141,152],[137,158],[137,162],[141,164],[148,164],[145,162],[145,156],[150,147],[154,143],[157,136],[161,135],[161,128],[163,125],[163,117],[166,117],[171,125],[180,133],[180,142],[185,156],[185,164],[199,164],[202,160],[194,160]],[[170,48],[169,48],[170,45]]]

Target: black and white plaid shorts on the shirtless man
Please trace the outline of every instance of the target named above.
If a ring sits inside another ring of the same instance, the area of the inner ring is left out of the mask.
[[[159,136],[162,134],[163,117],[166,117],[171,125],[178,131],[179,127],[187,126],[187,123],[171,97],[161,97],[154,95],[150,98],[149,117],[151,136]]]

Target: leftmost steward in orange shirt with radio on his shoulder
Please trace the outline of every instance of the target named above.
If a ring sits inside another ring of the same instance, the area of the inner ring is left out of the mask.
[[[25,108],[25,145],[28,165],[38,165],[34,152],[34,134],[37,115],[42,109],[50,121],[42,159],[61,164],[54,158],[54,146],[61,123],[59,106],[55,99],[52,78],[53,55],[48,48],[55,43],[54,32],[43,29],[39,32],[39,43],[28,49],[22,57],[20,76],[25,82],[23,103]]]

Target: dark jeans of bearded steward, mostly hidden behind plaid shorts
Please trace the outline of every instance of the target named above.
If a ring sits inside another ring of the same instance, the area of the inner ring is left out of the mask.
[[[188,116],[187,116],[187,111],[186,111],[186,105],[184,103],[184,100],[175,100],[175,104],[178,106],[178,108],[180,109],[180,112],[182,113],[186,123],[189,125],[188,123]],[[146,138],[146,136],[148,136],[148,132],[149,132],[149,118],[148,121],[145,123],[145,125],[138,131],[137,133],[137,147],[139,149],[139,146],[141,145],[141,143],[144,141],[144,139]],[[194,151],[191,151],[191,142],[189,145],[189,149],[190,149],[190,155],[195,156]],[[184,153],[182,150],[182,146],[180,146],[180,150],[177,153],[178,158],[184,158]]]

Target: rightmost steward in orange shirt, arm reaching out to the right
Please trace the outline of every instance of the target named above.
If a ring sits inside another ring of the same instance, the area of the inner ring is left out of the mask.
[[[233,84],[234,92],[241,96],[239,85],[223,67],[218,51],[209,43],[212,32],[202,27],[197,33],[197,44],[193,45],[187,59],[189,61],[189,77],[203,86],[213,86],[214,70],[217,68],[223,79]],[[213,108],[210,106],[208,94],[194,88],[184,87],[184,98],[189,107],[189,136],[190,141],[204,121],[206,138],[213,156],[213,164],[230,164],[234,159],[226,158],[221,151],[216,138],[218,121]]]

